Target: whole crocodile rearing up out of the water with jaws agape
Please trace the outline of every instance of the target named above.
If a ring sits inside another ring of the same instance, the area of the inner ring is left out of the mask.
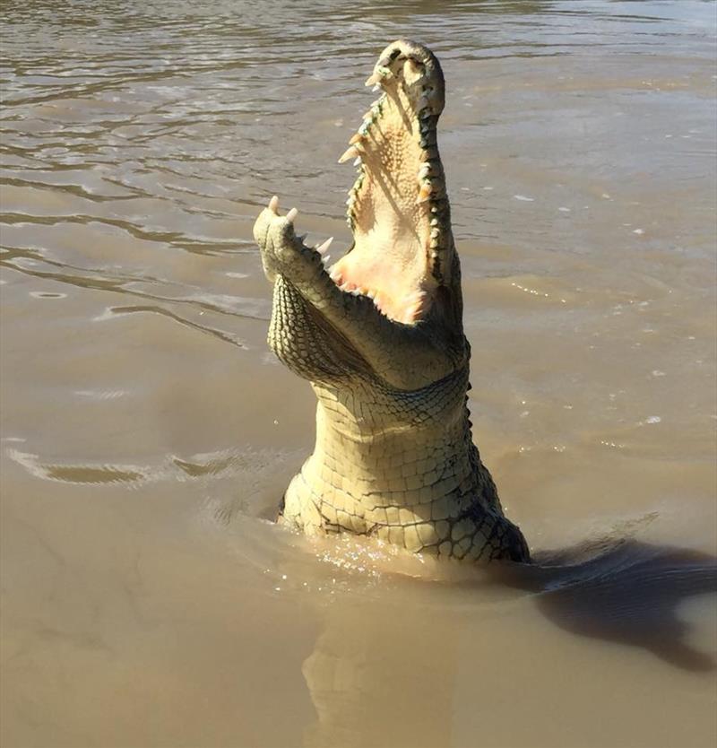
[[[398,39],[367,85],[380,91],[339,162],[353,161],[350,249],[335,262],[298,236],[276,196],[256,219],[273,284],[268,343],[317,399],[313,454],[279,521],[410,552],[530,561],[471,436],[461,269],[436,144],[441,66]]]

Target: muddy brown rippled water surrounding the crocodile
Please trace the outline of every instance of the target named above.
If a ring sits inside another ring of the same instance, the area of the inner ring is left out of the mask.
[[[717,740],[713,2],[6,2],[2,745]],[[391,39],[441,145],[475,437],[539,563],[270,521],[314,397],[273,194],[336,237]]]

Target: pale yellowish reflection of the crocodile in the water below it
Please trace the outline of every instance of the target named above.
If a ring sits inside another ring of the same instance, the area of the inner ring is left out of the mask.
[[[304,745],[453,744],[458,652],[450,634],[436,636],[390,604],[331,606],[302,666],[316,709]]]

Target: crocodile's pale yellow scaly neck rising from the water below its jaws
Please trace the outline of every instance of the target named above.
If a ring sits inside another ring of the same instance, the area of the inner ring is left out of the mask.
[[[419,392],[375,381],[313,385],[315,448],[289,486],[285,514],[308,533],[348,530],[412,552],[489,555],[473,538],[495,534],[501,509],[471,440],[467,379],[466,367]]]

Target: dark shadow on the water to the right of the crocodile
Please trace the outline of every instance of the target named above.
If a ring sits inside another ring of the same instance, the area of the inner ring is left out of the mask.
[[[707,553],[608,540],[543,552],[531,567],[494,573],[535,593],[540,611],[566,631],[648,649],[693,672],[717,667],[687,643],[689,626],[677,615],[683,600],[717,593],[717,558]]]

